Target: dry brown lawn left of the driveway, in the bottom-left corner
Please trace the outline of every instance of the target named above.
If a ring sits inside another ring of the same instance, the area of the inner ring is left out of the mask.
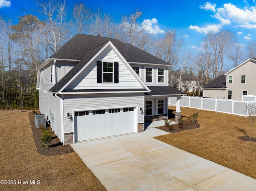
[[[28,111],[0,110],[0,180],[16,180],[16,185],[0,185],[0,190],[106,190],[74,152],[59,156],[38,154]],[[18,185],[18,180],[28,185]],[[40,180],[40,185],[30,185]]]

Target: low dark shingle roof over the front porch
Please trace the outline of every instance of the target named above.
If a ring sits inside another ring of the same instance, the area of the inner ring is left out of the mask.
[[[145,95],[174,95],[174,94],[186,94],[172,86],[148,86],[151,92],[145,93]]]

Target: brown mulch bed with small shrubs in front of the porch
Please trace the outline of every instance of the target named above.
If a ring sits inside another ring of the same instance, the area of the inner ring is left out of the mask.
[[[184,120],[184,118],[183,118],[183,120]],[[180,126],[178,124],[171,125],[171,128],[167,128],[165,126],[161,126],[161,127],[157,127],[157,128],[160,129],[160,130],[164,130],[166,132],[169,132],[169,133],[176,133],[176,132],[195,129],[195,128],[199,128],[199,127],[200,127],[200,124],[192,123],[192,121],[188,118],[188,119],[184,120],[183,128],[180,128]]]

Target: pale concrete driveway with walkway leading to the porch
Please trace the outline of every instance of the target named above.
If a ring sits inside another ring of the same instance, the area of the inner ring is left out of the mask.
[[[72,144],[108,191],[251,191],[256,179],[152,138],[156,128]]]

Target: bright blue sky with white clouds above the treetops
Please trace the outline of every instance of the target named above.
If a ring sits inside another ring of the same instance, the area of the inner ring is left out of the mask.
[[[81,0],[66,0],[69,13],[72,6]],[[178,38],[185,42],[185,48],[196,52],[200,41],[209,31],[230,30],[238,43],[248,44],[256,38],[255,0],[97,0],[82,2],[92,10],[100,8],[109,13],[116,23],[122,15],[129,15],[140,9],[143,15],[138,20],[147,26],[149,33],[161,33],[176,29]],[[21,10],[32,13],[34,0],[0,0],[0,15],[13,18],[22,16]]]

